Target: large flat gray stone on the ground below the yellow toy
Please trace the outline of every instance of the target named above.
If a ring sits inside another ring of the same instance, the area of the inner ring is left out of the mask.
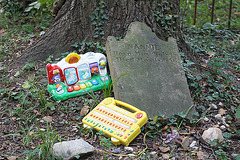
[[[94,151],[94,147],[84,141],[77,139],[72,141],[59,142],[53,145],[53,155],[69,160],[77,155],[86,155]]]

